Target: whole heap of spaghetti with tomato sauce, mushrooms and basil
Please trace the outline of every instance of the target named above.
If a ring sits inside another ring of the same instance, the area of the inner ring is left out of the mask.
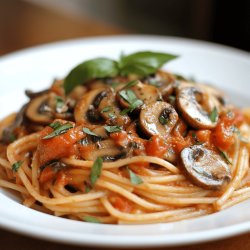
[[[179,221],[250,198],[250,110],[161,69],[176,58],[91,59],[26,90],[0,121],[0,186],[32,209],[110,224]]]

